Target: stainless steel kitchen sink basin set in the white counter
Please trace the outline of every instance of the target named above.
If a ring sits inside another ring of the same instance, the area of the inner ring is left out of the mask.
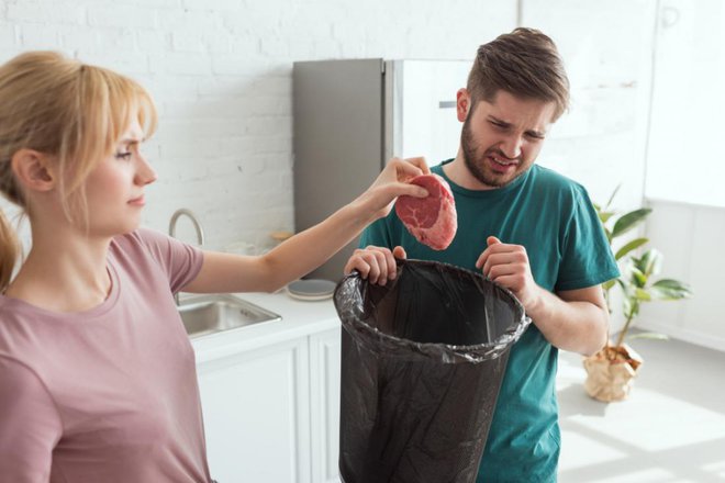
[[[189,337],[246,327],[282,316],[228,294],[194,295],[177,307]]]

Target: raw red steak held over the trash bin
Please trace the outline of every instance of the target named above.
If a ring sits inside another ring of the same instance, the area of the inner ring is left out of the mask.
[[[411,181],[428,191],[426,198],[400,196],[395,213],[419,242],[434,250],[448,248],[456,236],[458,220],[453,192],[438,175],[421,175]]]

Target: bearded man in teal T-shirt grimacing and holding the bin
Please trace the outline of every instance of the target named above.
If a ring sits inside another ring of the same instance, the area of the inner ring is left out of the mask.
[[[596,213],[584,188],[534,164],[568,100],[569,82],[548,36],[516,29],[480,46],[457,93],[458,154],[432,168],[454,192],[454,242],[443,251],[420,244],[393,211],[367,228],[361,246],[370,247],[350,259],[380,283],[394,272],[387,249],[393,247],[398,257],[481,270],[510,289],[533,319],[511,350],[479,482],[556,481],[558,349],[591,355],[606,342],[600,284],[618,270]]]

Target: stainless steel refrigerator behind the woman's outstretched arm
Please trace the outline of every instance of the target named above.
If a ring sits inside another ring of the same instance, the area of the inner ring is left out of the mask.
[[[365,191],[393,156],[456,156],[456,91],[470,60],[294,63],[294,224],[301,232]],[[338,281],[353,243],[308,278]]]

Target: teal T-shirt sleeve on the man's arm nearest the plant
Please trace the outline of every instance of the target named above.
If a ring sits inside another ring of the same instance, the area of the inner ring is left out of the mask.
[[[587,190],[573,190],[556,291],[598,285],[620,276],[612,248]]]

